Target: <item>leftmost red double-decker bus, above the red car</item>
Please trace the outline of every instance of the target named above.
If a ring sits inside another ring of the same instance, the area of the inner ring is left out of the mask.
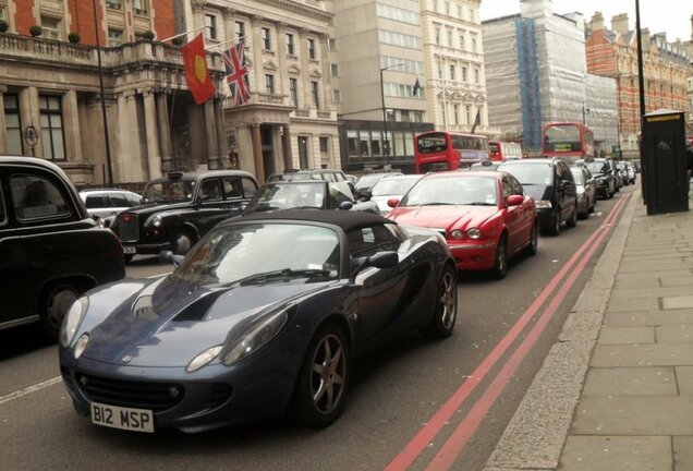
[[[489,159],[488,137],[481,134],[429,131],[414,137],[416,173],[457,170]]]

